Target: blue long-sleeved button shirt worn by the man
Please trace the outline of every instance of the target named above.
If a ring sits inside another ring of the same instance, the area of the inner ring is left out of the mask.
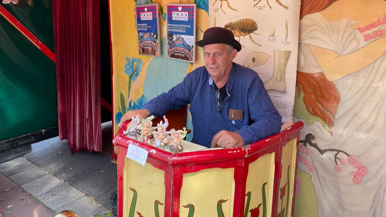
[[[257,73],[233,63],[222,101],[222,113],[216,110],[215,84],[205,66],[196,68],[168,93],[153,98],[143,108],[151,115],[163,116],[169,110],[190,103],[193,123],[191,142],[210,147],[213,136],[222,130],[237,132],[244,145],[276,134],[281,129],[281,116],[274,107]],[[229,119],[229,109],[244,110],[243,119]]]

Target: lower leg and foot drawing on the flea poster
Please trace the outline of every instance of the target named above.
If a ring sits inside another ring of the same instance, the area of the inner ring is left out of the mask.
[[[273,74],[272,77],[264,83],[264,88],[276,90],[285,93],[286,85],[286,68],[291,56],[291,51],[273,50]]]

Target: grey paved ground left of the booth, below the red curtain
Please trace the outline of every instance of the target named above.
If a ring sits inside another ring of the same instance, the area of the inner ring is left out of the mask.
[[[111,123],[110,123],[111,124]],[[0,213],[4,217],[80,217],[112,212],[117,164],[111,162],[111,125],[102,124],[103,151],[71,155],[58,137],[32,144],[32,152],[0,164]],[[113,216],[113,215],[112,215]]]

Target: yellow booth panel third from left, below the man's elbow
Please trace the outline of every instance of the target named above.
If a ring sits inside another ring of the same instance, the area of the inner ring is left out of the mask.
[[[265,154],[249,164],[244,206],[246,216],[248,217],[252,216],[252,214],[257,216],[257,212],[263,216],[264,205],[266,207],[266,217],[271,216],[269,210],[272,210],[274,160],[275,153]],[[263,201],[263,188],[266,201]]]

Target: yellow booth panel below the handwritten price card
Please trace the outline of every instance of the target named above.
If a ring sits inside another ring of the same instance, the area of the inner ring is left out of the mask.
[[[159,216],[164,216],[164,174],[163,170],[159,170],[149,163],[142,166],[129,158],[125,158],[124,217],[138,216],[137,212],[143,216],[156,216],[156,210],[154,208],[156,200],[159,201]],[[144,182],[144,180],[146,180],[146,182]],[[137,197],[136,200],[135,196]],[[131,207],[131,203],[134,204],[133,207]],[[131,209],[132,212],[134,211],[134,215],[129,216]]]

